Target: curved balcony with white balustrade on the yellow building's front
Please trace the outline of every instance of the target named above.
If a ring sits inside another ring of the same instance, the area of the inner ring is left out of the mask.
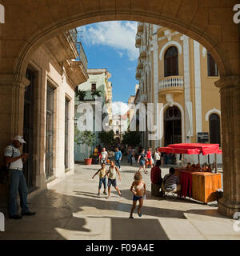
[[[171,76],[162,78],[158,82],[158,94],[175,93],[181,94],[184,91],[184,81],[182,76]]]

